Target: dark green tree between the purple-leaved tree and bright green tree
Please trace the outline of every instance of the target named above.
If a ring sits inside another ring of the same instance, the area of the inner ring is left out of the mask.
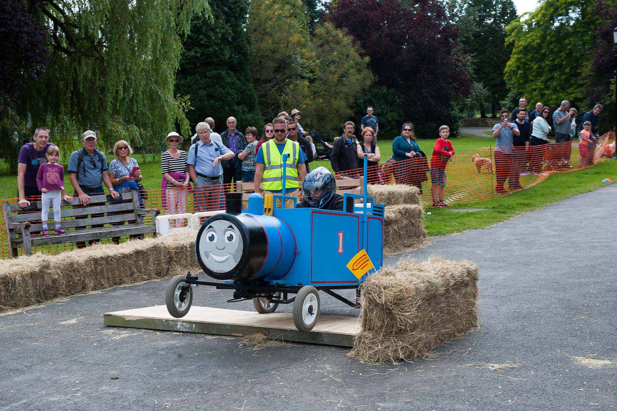
[[[461,14],[457,23],[462,27],[461,42],[472,56],[473,78],[487,91],[492,114],[508,94],[503,70],[510,58],[511,44],[505,43],[510,22],[516,19],[516,7],[511,0],[471,0],[458,3]],[[484,101],[478,101],[481,117],[486,117]]]

